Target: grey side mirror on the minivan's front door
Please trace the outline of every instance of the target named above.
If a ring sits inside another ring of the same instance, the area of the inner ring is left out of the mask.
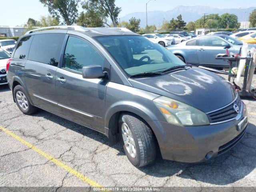
[[[102,71],[100,65],[89,65],[83,67],[82,76],[85,79],[98,79],[106,77],[107,72]]]

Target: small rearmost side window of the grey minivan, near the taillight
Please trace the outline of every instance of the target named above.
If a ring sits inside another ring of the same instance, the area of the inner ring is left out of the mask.
[[[20,58],[20,59],[28,59],[28,51],[29,51],[32,39],[33,39],[33,36],[26,36],[22,38],[16,47],[13,57]]]

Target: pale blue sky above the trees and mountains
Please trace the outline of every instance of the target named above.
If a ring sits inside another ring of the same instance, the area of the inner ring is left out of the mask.
[[[116,5],[122,7],[120,17],[132,12],[144,12],[148,0],[116,0]],[[242,2],[242,3],[241,3]],[[152,0],[148,4],[148,11],[167,11],[176,6],[210,6],[214,8],[239,8],[256,6],[252,1],[242,0]],[[26,23],[28,18],[38,20],[40,16],[47,16],[48,9],[39,0],[0,0],[0,26],[16,26]],[[82,11],[81,8],[79,8]]]

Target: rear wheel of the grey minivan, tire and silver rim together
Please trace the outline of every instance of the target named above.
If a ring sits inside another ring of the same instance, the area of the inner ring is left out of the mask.
[[[13,90],[13,95],[14,100],[22,113],[29,115],[36,112],[37,108],[35,106],[32,106],[32,104],[29,102],[28,96],[26,95],[26,92],[22,86],[15,86]]]

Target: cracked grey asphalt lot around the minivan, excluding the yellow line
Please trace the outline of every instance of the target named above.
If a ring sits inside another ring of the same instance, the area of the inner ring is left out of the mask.
[[[101,186],[256,186],[256,100],[243,99],[247,133],[228,153],[202,164],[162,160],[142,168],[126,158],[120,143],[49,112],[20,112],[8,86],[0,86],[0,126]],[[254,114],[253,114],[254,113]],[[0,186],[89,186],[0,130]]]

